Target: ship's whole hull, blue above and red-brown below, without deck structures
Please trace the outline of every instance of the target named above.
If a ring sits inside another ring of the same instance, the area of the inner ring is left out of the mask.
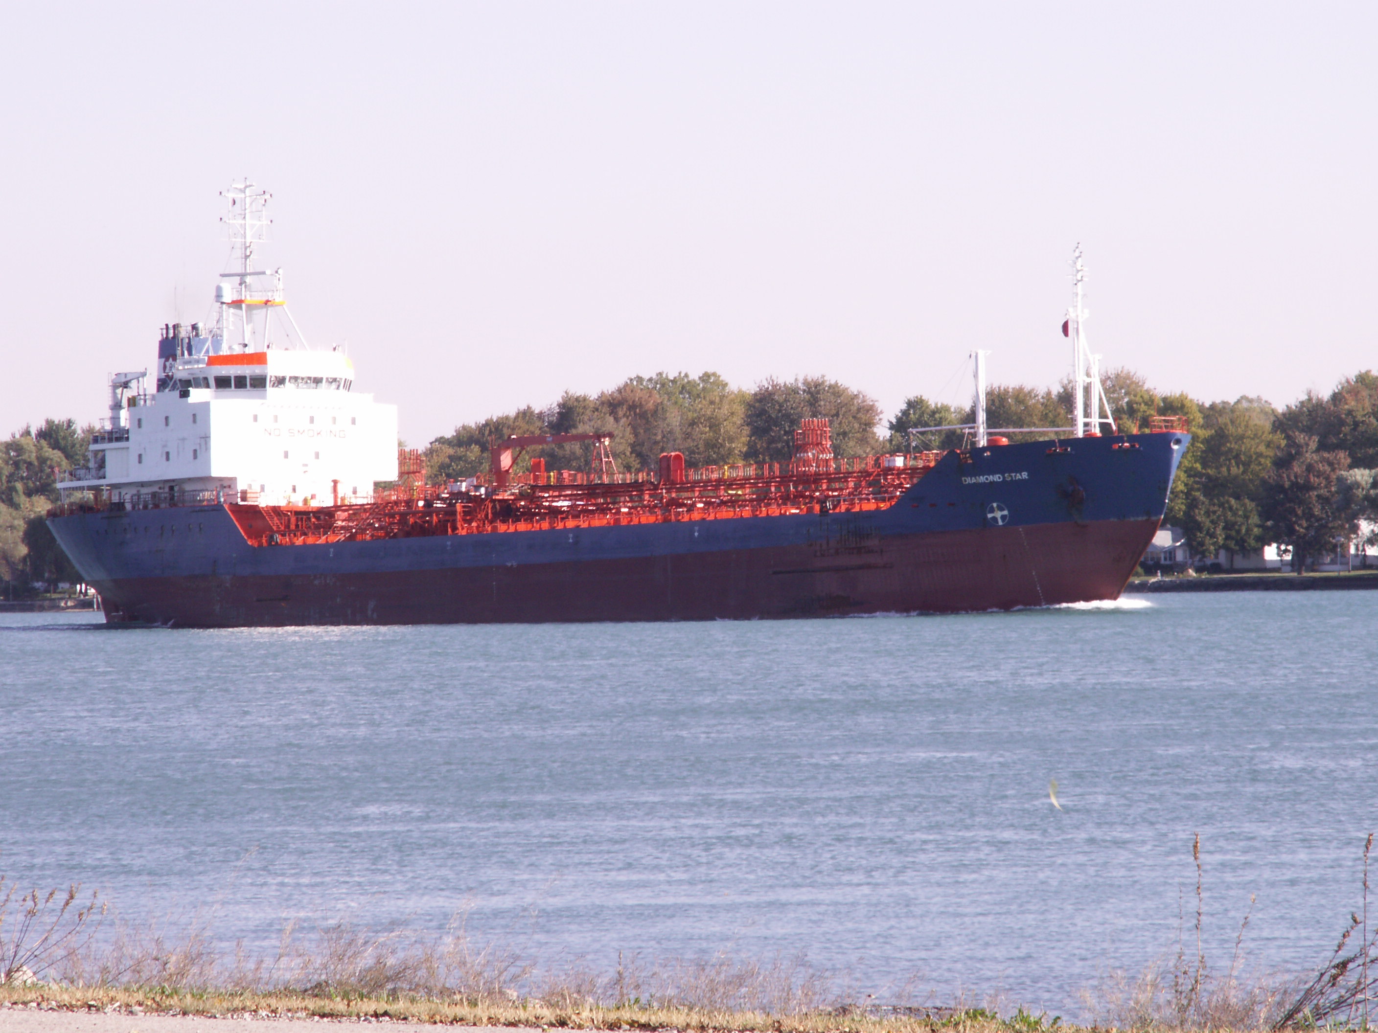
[[[107,618],[176,627],[752,620],[1113,599],[1185,435],[949,453],[870,512],[249,545],[236,507],[50,523]],[[1173,444],[1175,442],[1175,445]]]

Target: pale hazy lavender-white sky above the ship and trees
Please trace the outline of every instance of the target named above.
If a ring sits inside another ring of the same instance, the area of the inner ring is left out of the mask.
[[[1378,6],[19,4],[0,30],[0,431],[103,415],[274,200],[313,344],[423,444],[715,369],[892,413],[1056,384],[1284,404],[1375,354]]]

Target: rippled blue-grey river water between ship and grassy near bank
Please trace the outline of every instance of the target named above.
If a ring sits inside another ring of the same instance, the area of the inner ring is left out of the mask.
[[[1299,971],[1378,826],[1378,592],[959,617],[112,629],[0,616],[0,872],[128,919],[467,910],[543,964],[803,953],[1073,1014]],[[1049,799],[1057,780],[1061,810]]]

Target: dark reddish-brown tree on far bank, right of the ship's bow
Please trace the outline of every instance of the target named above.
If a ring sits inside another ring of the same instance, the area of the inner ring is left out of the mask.
[[[1276,541],[1293,550],[1293,569],[1335,550],[1353,526],[1341,507],[1339,475],[1349,468],[1344,452],[1324,452],[1309,434],[1288,434],[1264,490],[1264,516]]]

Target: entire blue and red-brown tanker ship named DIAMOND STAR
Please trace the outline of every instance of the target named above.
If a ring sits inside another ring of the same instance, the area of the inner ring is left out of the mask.
[[[273,627],[657,621],[952,613],[1113,599],[1158,530],[1188,445],[1175,417],[1119,432],[1084,336],[1083,267],[1062,332],[1069,427],[987,427],[974,358],[963,446],[838,457],[827,420],[790,461],[620,472],[608,435],[492,442],[427,483],[395,406],[313,348],[281,270],[256,270],[266,191],[227,191],[236,260],[203,324],[164,326],[110,380],[85,468],[48,525],[112,623]],[[1009,432],[1039,434],[1011,442]],[[912,442],[911,435],[911,442]],[[544,468],[582,441],[587,470]],[[528,463],[520,464],[522,456]],[[521,468],[518,468],[521,466]]]

